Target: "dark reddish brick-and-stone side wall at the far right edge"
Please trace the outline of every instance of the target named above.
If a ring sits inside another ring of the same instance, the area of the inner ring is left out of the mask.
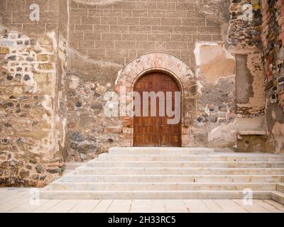
[[[284,1],[262,1],[268,142],[284,153]]]

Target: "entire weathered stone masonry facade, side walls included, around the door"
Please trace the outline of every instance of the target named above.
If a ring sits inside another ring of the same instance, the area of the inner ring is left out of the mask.
[[[0,185],[132,146],[104,94],[159,67],[182,84],[182,146],[284,153],[283,15],[283,0],[1,0]]]

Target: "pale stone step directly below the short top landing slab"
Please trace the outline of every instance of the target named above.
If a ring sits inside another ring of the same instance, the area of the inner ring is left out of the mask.
[[[278,161],[284,155],[99,155],[99,161]]]

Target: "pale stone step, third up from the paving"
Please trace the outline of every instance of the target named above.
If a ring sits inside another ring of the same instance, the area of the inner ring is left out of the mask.
[[[280,182],[280,175],[66,175],[60,182]]]

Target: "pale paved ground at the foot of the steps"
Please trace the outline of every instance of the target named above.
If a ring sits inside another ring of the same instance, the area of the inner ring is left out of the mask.
[[[253,200],[244,205],[239,199],[41,199],[33,200],[37,189],[0,188],[0,212],[284,212],[272,200]]]

